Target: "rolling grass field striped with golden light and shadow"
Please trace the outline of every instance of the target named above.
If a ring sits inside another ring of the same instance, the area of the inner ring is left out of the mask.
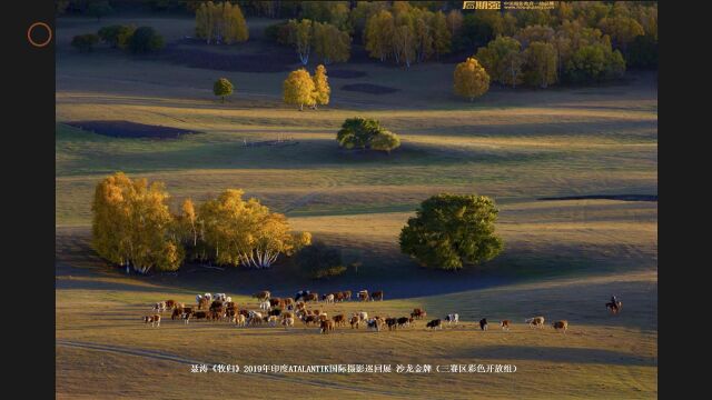
[[[657,396],[657,203],[542,201],[574,194],[657,193],[657,88],[649,72],[604,87],[493,88],[468,103],[452,94],[453,64],[411,71],[372,62],[334,66],[366,72],[332,78],[332,104],[299,112],[280,101],[286,73],[247,73],[141,60],[108,49],[80,54],[71,37],[113,22],[156,27],[175,42],[188,19],[59,19],[57,29],[56,224],[58,398],[606,398]],[[259,51],[254,42],[209,51]],[[295,54],[294,59],[297,57]],[[297,66],[291,66],[296,68]],[[313,68],[310,66],[310,68]],[[226,103],[216,78],[236,84]],[[374,96],[349,83],[398,89]],[[426,83],[426,84],[425,84]],[[379,119],[402,137],[394,153],[339,150],[345,118]],[[177,140],[119,139],[69,127],[125,120],[196,131]],[[246,147],[291,139],[297,144]],[[191,268],[127,277],[88,247],[96,182],[122,170],[162,180],[175,206],[241,188],[360,262],[344,277],[312,282],[284,263],[268,271]],[[402,256],[397,234],[417,204],[442,191],[495,198],[505,251],[477,270],[445,273]],[[414,307],[457,328],[421,322],[397,332],[237,329],[165,321],[146,328],[152,302],[194,301],[224,291],[243,304],[256,290],[383,289],[386,301],[328,306],[403,316]],[[611,294],[625,303],[606,313]],[[531,330],[524,318],[567,319],[568,333]],[[486,317],[491,330],[475,321]],[[511,319],[512,331],[496,321]],[[195,374],[190,363],[513,363],[513,374]]]

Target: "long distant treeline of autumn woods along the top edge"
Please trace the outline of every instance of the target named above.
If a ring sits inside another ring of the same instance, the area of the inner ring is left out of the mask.
[[[370,58],[409,68],[452,54],[474,56],[493,81],[547,87],[619,78],[627,68],[657,67],[657,3],[556,2],[552,10],[462,10],[462,1],[229,1],[236,12],[289,20],[268,39],[296,49],[308,62],[344,62],[352,44]],[[195,14],[204,1],[138,2],[152,12]],[[221,2],[215,2],[220,4]],[[97,18],[136,1],[58,1],[58,13]],[[200,23],[197,30],[200,31]],[[485,50],[486,49],[486,50]]]

